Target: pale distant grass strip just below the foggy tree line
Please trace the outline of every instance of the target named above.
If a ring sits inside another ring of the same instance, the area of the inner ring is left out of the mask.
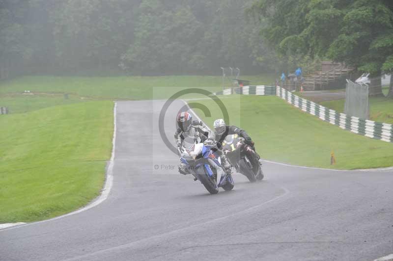
[[[242,76],[252,84],[272,84],[274,75]],[[226,81],[228,85],[230,82]],[[162,87],[162,88],[159,88]],[[33,92],[72,93],[81,97],[129,100],[168,98],[172,87],[215,87],[222,89],[220,76],[162,76],[162,77],[21,77],[0,83],[0,94]],[[174,89],[176,90],[176,89]]]

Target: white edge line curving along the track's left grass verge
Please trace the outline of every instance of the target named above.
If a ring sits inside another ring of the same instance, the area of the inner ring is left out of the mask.
[[[106,171],[106,179],[105,179],[105,185],[101,190],[101,195],[98,196],[95,200],[93,200],[92,202],[90,202],[87,206],[75,210],[73,212],[61,215],[61,216],[57,216],[51,219],[46,219],[46,220],[42,220],[42,221],[37,221],[37,222],[31,222],[31,223],[13,223],[14,225],[10,225],[7,226],[6,228],[1,228],[0,227],[0,232],[1,231],[6,231],[6,230],[10,230],[10,229],[14,229],[14,228],[21,228],[21,227],[25,227],[25,226],[29,226],[29,225],[34,225],[34,224],[39,224],[39,223],[44,223],[44,222],[48,222],[48,221],[53,221],[56,219],[60,219],[63,217],[67,217],[67,216],[71,216],[71,215],[75,215],[78,213],[81,213],[83,211],[86,211],[87,209],[91,209],[94,208],[96,206],[98,206],[99,204],[101,204],[102,202],[104,202],[107,198],[109,193],[111,192],[112,189],[112,185],[113,185],[113,166],[114,166],[114,156],[115,156],[115,147],[116,147],[116,108],[117,108],[117,103],[114,102],[114,106],[113,106],[113,138],[112,138],[112,156],[111,159],[109,161],[109,165]],[[0,224],[1,226],[1,224]]]

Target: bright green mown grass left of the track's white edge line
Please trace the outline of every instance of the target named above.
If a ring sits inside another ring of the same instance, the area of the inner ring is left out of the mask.
[[[103,185],[112,149],[113,103],[40,106],[0,115],[0,223],[70,212],[98,196]]]

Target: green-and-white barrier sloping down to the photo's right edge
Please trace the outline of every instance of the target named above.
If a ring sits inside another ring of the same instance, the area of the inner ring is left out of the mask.
[[[299,96],[292,94],[280,86],[277,86],[276,95],[288,103],[294,105],[295,107],[298,107],[301,110],[308,112],[309,114],[312,114],[323,121],[337,125],[343,130],[350,130],[354,133],[373,139],[393,142],[392,124],[364,120],[358,117],[346,115],[344,113],[338,113],[335,110],[300,98]]]

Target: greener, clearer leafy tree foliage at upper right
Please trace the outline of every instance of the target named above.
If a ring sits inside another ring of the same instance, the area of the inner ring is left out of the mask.
[[[281,58],[329,58],[380,75],[393,70],[393,1],[257,0],[253,14]]]

